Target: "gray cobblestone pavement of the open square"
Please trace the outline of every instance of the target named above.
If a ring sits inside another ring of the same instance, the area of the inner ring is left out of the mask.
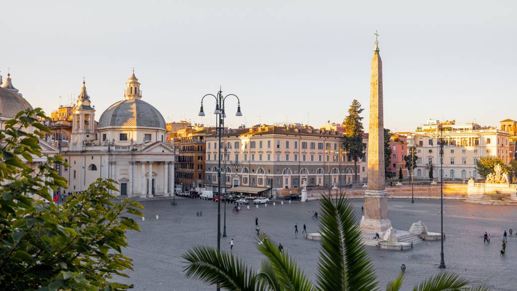
[[[141,232],[130,232],[130,247],[125,253],[134,259],[131,278],[120,281],[134,284],[135,290],[215,290],[200,281],[190,280],[182,274],[184,254],[193,245],[216,246],[217,203],[212,201],[178,198],[178,205],[169,201],[143,201],[146,220],[139,221]],[[362,199],[352,200],[357,220],[360,220]],[[256,239],[255,216],[261,231],[268,237],[281,242],[284,249],[315,280],[319,242],[306,240],[301,231],[303,224],[308,231],[317,231],[317,221],[311,219],[309,210],[318,210],[319,202],[299,202],[232,213],[226,208],[227,238],[221,238],[221,248],[230,250],[230,239],[234,239],[233,253],[254,268],[260,266],[262,254],[254,246]],[[221,204],[221,210],[223,209]],[[408,230],[409,226],[421,220],[429,231],[439,232],[439,200],[389,200],[388,216],[393,227]],[[517,230],[517,208],[511,206],[482,206],[463,201],[444,201],[444,242],[447,271],[459,273],[474,284],[485,284],[492,290],[516,290],[514,272],[517,266],[517,237],[509,237],[507,254],[499,255],[501,235],[504,229]],[[196,211],[203,211],[197,217]],[[222,211],[221,211],[222,212]],[[159,215],[159,220],[155,219]],[[221,219],[223,214],[221,213]],[[298,223],[300,234],[294,234]],[[221,222],[222,229],[222,222]],[[481,235],[488,231],[492,236],[490,244],[484,244]],[[372,258],[377,280],[384,287],[389,280],[400,273],[401,264],[407,266],[403,290],[410,290],[421,280],[437,274],[440,259],[440,243],[422,242],[407,252],[383,251],[367,247]],[[513,286],[513,287],[512,287]]]

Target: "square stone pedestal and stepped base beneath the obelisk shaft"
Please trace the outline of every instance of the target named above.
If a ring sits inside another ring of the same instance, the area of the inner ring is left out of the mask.
[[[376,246],[382,240],[386,230],[391,227],[388,219],[388,194],[386,190],[367,190],[364,192],[364,216],[359,225],[362,241],[366,245]],[[374,239],[375,234],[379,240]]]

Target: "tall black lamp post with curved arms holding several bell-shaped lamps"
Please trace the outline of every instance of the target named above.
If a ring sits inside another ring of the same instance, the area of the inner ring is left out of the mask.
[[[217,251],[219,252],[221,250],[221,138],[222,138],[222,124],[224,122],[224,118],[226,118],[226,114],[224,113],[224,101],[229,96],[234,96],[237,98],[237,113],[236,116],[242,116],[242,113],[240,112],[240,100],[239,97],[235,94],[228,94],[226,96],[223,96],[222,90],[219,89],[219,92],[217,92],[217,96],[214,94],[206,94],[201,98],[201,109],[199,111],[199,116],[205,116],[205,112],[203,110],[203,99],[205,99],[206,96],[212,96],[214,99],[216,99],[216,110],[214,111],[214,114],[217,115],[217,131],[218,131],[218,137],[219,137],[219,146],[218,148],[218,169],[217,169]],[[219,290],[219,286],[217,287]]]

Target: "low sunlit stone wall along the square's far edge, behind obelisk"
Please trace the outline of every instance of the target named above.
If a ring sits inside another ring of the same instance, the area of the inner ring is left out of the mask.
[[[363,198],[362,189],[343,189],[342,193],[349,198]],[[386,187],[390,198],[411,198],[411,186]],[[339,191],[338,191],[339,193]],[[318,200],[322,195],[328,196],[328,191],[307,191],[307,200]],[[336,191],[332,191],[331,196],[336,197]],[[414,196],[418,199],[438,199],[440,198],[440,185],[414,185]],[[444,184],[444,199],[465,199],[467,197],[466,184]]]

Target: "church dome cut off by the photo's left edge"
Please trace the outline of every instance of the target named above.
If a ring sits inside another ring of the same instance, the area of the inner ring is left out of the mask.
[[[14,88],[10,74],[7,75],[5,83],[0,88],[0,113],[3,118],[14,118],[18,112],[26,109],[33,109],[18,89]]]

